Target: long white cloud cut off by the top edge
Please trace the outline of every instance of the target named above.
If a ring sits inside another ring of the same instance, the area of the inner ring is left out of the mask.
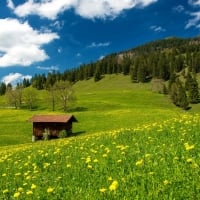
[[[123,10],[136,6],[145,7],[158,0],[28,0],[14,6],[8,0],[8,7],[14,10],[19,17],[39,15],[40,17],[55,20],[65,10],[74,9],[78,15],[88,18],[115,18]]]

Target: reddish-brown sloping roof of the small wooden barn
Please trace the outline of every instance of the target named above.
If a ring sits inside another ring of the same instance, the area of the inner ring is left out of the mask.
[[[67,123],[69,121],[78,122],[73,115],[34,115],[31,122],[54,122],[54,123]]]

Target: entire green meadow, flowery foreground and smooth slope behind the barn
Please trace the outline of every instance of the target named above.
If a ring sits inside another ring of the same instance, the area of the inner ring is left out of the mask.
[[[44,91],[36,110],[0,109],[0,199],[200,199],[198,105],[122,75],[74,89],[74,137],[31,143],[32,115],[63,114]]]

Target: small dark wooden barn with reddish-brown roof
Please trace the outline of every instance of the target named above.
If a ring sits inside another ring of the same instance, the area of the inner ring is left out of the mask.
[[[33,141],[43,139],[45,134],[49,139],[58,138],[63,131],[69,136],[72,123],[78,122],[73,115],[34,115],[30,121],[33,122]]]

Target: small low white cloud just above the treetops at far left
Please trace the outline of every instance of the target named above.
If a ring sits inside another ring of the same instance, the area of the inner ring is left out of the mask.
[[[24,78],[31,79],[32,76],[22,75],[20,73],[10,73],[2,78],[2,82],[6,84],[11,83],[12,85],[16,85],[17,83],[22,82]]]

